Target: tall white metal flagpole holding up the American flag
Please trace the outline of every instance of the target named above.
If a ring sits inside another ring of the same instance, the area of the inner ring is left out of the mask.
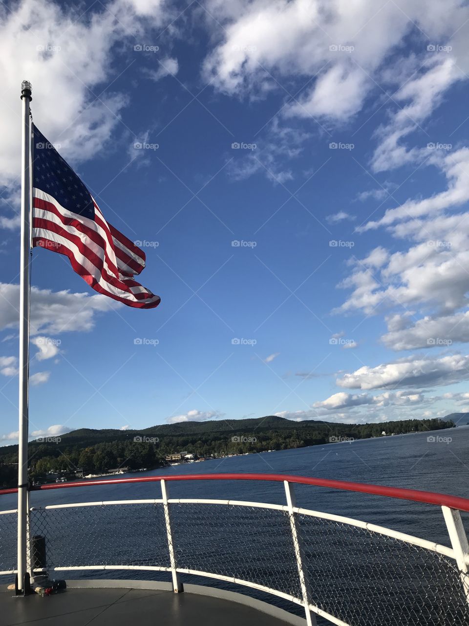
[[[28,391],[29,391],[29,219],[31,211],[31,123],[29,103],[31,83],[21,83],[21,254],[19,278],[19,433],[18,433],[18,574],[17,593],[28,593]]]

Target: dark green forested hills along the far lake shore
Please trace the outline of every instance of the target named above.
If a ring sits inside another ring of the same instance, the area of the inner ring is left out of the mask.
[[[182,451],[199,458],[211,458],[453,426],[455,423],[446,418],[337,424],[313,419],[294,422],[271,415],[257,419],[158,424],[142,430],[82,428],[58,438],[31,441],[29,466],[33,480],[44,480],[50,472],[73,474],[80,469],[88,474],[106,473],[122,466],[155,468],[166,463],[168,454]],[[18,463],[18,445],[0,448],[0,486],[16,484],[15,463]]]

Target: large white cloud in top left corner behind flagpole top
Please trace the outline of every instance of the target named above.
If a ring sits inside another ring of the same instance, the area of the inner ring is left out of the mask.
[[[172,15],[173,9],[169,11],[159,0],[111,0],[94,4],[85,13],[73,4],[23,0],[4,10],[0,24],[0,185],[18,185],[22,79],[33,85],[34,120],[44,135],[59,143],[61,154],[72,163],[87,160],[106,148],[128,103],[128,96],[115,88],[98,97],[117,74],[116,48],[136,60],[136,54],[145,54],[134,52],[136,38],[164,19],[170,22]],[[60,106],[55,106],[57,101]],[[3,216],[1,226],[18,225],[14,210],[12,204],[13,215]]]

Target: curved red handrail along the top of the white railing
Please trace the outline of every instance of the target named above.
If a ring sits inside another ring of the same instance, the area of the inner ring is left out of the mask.
[[[121,485],[122,483],[154,483],[160,480],[267,480],[301,485],[313,485],[316,487],[329,487],[358,493],[370,493],[376,496],[398,498],[399,500],[411,500],[423,502],[429,505],[449,506],[460,511],[469,511],[469,500],[459,496],[448,496],[444,493],[433,491],[419,491],[415,489],[401,489],[399,487],[385,487],[370,485],[368,483],[350,483],[345,480],[330,480],[328,478],[308,478],[307,476],[291,476],[284,474],[188,474],[178,476],[144,476],[142,478],[116,478],[115,480],[90,480],[80,483],[54,483],[52,485],[39,485],[31,488],[31,491],[46,491],[49,489],[66,489],[71,487],[91,487],[98,485]],[[0,490],[4,493],[17,493],[18,489]]]

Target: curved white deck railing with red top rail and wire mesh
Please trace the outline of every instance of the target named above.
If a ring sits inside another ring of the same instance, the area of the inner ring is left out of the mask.
[[[281,481],[285,505],[171,498],[168,483],[181,480]],[[34,490],[144,482],[159,482],[161,498],[30,506],[31,575],[168,572],[175,592],[183,590],[181,574],[216,578],[301,605],[308,625],[316,615],[339,626],[469,624],[469,546],[460,515],[469,511],[465,498],[266,474],[151,476]],[[450,545],[299,508],[295,483],[440,506]],[[37,548],[43,538],[45,563]],[[0,575],[14,574],[16,510],[0,511],[0,541]]]

